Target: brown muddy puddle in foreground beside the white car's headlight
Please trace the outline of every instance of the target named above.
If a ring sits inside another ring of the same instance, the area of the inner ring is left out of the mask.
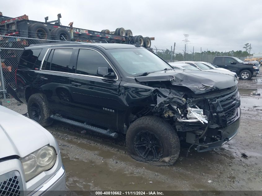
[[[82,160],[71,160],[62,154],[67,172],[67,187],[70,190],[172,190],[172,184],[149,179],[147,176],[135,175],[134,172],[121,169],[113,170],[102,163],[100,165]],[[152,183],[150,183],[152,182]]]

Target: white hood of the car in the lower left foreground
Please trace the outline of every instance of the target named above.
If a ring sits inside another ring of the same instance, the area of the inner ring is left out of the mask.
[[[24,157],[48,144],[59,152],[56,140],[45,128],[0,106],[0,159],[11,155]]]

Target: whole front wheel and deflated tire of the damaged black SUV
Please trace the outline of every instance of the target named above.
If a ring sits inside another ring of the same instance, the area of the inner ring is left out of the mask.
[[[180,152],[174,128],[155,116],[135,120],[127,130],[126,143],[131,157],[158,166],[173,165]]]

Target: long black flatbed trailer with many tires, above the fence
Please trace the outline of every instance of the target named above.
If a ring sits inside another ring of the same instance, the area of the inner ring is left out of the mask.
[[[57,15],[57,20],[45,22],[29,20],[28,15],[18,17],[3,16],[0,12],[0,35],[29,37],[42,40],[60,40],[60,41],[82,41],[82,42],[100,42],[100,43],[122,43],[136,44],[145,48],[151,47],[151,40],[154,37],[143,37],[142,35],[133,36],[131,30],[116,28],[115,31],[104,29],[94,31],[83,28],[74,28],[73,22],[68,26],[60,23],[61,14]]]

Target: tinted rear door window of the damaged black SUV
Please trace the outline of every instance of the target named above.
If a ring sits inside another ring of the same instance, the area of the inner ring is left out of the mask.
[[[55,49],[50,70],[56,72],[75,73],[75,66],[73,66],[72,63],[72,54],[73,49]]]

